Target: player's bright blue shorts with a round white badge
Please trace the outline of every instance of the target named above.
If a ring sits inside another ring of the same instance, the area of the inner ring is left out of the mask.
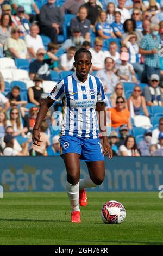
[[[61,156],[66,153],[77,153],[80,160],[86,162],[104,161],[100,139],[85,139],[83,137],[63,135],[59,139]]]

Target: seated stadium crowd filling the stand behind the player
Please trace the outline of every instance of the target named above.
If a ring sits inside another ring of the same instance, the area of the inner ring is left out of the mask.
[[[60,155],[62,102],[41,124],[40,147],[32,130],[85,47],[104,84],[114,155],[163,156],[163,0],[2,0],[0,15],[1,155]]]

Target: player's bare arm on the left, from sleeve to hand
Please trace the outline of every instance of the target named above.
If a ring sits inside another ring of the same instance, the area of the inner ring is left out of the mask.
[[[33,127],[33,135],[32,135],[32,140],[33,140],[33,144],[39,146],[40,145],[40,132],[39,132],[39,128],[40,125],[43,121],[43,119],[45,118],[49,107],[51,107],[53,105],[53,103],[55,102],[55,100],[51,99],[51,97],[47,97],[47,99],[45,99],[39,109],[39,113],[37,114],[37,118],[36,118],[36,122],[35,125]]]

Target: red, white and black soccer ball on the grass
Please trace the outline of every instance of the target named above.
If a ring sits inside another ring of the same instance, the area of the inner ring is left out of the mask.
[[[126,210],[117,201],[106,202],[101,209],[101,218],[105,224],[120,224],[125,220]]]

